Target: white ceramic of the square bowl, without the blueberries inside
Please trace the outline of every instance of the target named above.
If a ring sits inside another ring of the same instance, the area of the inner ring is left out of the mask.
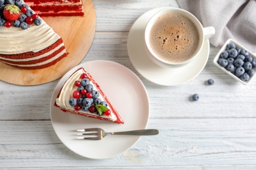
[[[233,42],[233,43],[236,45],[236,48],[241,48],[241,49],[247,50],[247,48],[245,48],[244,46],[242,46],[239,42],[234,41],[233,39],[228,39],[228,40],[224,43],[224,45],[223,45],[223,47],[221,48],[221,50],[219,50],[218,54],[217,54],[217,55],[215,56],[215,58],[213,59],[213,63],[214,63],[215,65],[217,65],[217,67],[219,67],[221,70],[223,70],[226,74],[232,76],[232,78],[238,80],[239,82],[242,82],[242,84],[247,85],[247,84],[249,84],[249,83],[253,80],[253,78],[255,77],[255,75],[256,75],[256,67],[253,68],[254,71],[255,71],[255,74],[254,74],[253,76],[251,76],[251,77],[249,78],[249,80],[247,80],[247,81],[242,81],[242,80],[241,80],[240,78],[238,78],[236,75],[234,75],[233,73],[230,73],[230,72],[227,71],[224,67],[221,67],[221,65],[219,65],[219,63],[218,63],[218,59],[219,59],[221,53],[224,52],[224,50],[226,50],[226,46],[227,46],[227,44],[229,44],[230,42]],[[255,54],[253,54],[253,53],[250,52],[249,50],[247,50],[247,52],[249,52],[249,56],[251,56],[252,58],[256,59],[256,55],[255,55]]]

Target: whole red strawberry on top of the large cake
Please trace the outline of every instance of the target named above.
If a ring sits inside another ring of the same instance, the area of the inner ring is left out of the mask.
[[[5,20],[14,22],[20,16],[20,9],[16,5],[5,5],[3,16],[5,16]]]

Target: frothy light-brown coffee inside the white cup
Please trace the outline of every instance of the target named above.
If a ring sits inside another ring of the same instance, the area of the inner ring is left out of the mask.
[[[186,61],[197,52],[200,35],[196,25],[176,12],[162,14],[150,30],[149,44],[158,58],[171,63]]]

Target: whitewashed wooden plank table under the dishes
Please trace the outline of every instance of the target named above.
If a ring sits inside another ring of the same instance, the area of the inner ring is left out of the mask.
[[[150,97],[148,128],[132,148],[106,160],[83,158],[53,130],[49,106],[58,80],[40,86],[0,82],[0,169],[256,169],[256,80],[244,86],[213,65],[211,46],[202,73],[186,84],[159,86],[143,78],[127,52],[131,25],[170,0],[94,0],[96,34],[82,62],[116,61],[134,71]],[[209,78],[213,86],[205,85]],[[200,100],[189,97],[198,93]]]

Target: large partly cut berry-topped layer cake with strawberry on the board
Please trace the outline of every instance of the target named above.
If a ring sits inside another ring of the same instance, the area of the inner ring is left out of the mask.
[[[67,56],[62,38],[21,0],[5,1],[0,19],[0,61],[42,69]],[[15,15],[15,16],[14,16]]]

